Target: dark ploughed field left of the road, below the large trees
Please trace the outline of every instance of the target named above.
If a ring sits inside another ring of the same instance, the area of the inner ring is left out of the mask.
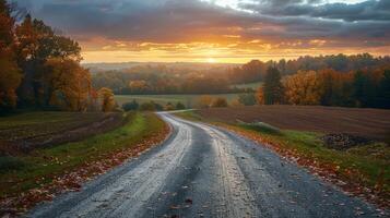
[[[0,118],[0,155],[104,133],[122,124],[121,113],[28,112]]]

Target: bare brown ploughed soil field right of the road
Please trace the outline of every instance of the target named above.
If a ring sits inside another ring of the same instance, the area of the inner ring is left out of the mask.
[[[202,117],[224,122],[265,122],[280,129],[348,133],[389,142],[390,110],[319,106],[253,106],[211,108]]]

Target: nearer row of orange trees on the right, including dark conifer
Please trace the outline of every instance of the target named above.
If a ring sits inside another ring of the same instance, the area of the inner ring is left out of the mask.
[[[298,71],[282,78],[280,70],[271,66],[256,97],[261,105],[390,108],[390,68],[348,73],[333,69]]]

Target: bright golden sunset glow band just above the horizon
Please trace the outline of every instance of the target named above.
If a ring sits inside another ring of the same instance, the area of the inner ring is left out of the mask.
[[[118,44],[102,46],[99,49],[85,49],[83,62],[209,62],[209,63],[246,63],[253,59],[262,61],[296,59],[300,56],[321,56],[339,53],[340,49],[324,47],[326,40],[310,40],[309,48],[303,48],[302,41],[293,43],[263,43],[251,40],[243,44]],[[82,45],[83,46],[83,45]],[[343,53],[354,55],[370,52],[374,56],[383,56],[390,46],[379,48],[343,48]]]

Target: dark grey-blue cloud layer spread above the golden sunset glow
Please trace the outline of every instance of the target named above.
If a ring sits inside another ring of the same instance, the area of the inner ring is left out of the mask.
[[[80,38],[187,43],[327,39],[345,44],[390,41],[390,1],[324,3],[321,0],[258,0],[240,10],[198,0],[19,0],[36,17]],[[248,12],[251,11],[252,13]]]

